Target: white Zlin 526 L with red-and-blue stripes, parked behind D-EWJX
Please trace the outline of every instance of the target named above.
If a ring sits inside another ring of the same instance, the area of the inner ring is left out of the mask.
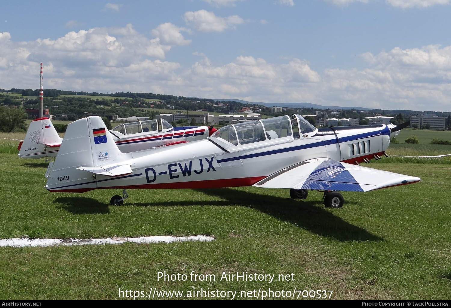
[[[124,123],[110,133],[123,153],[150,149],[163,145],[206,139],[214,128],[207,126],[173,127],[165,119]],[[106,131],[101,129],[97,134]],[[18,146],[20,158],[55,157],[61,138],[49,118],[37,118],[30,123],[25,139]],[[104,153],[105,154],[105,153]]]

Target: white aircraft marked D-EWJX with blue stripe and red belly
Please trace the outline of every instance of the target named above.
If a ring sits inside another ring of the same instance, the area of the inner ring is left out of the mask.
[[[318,129],[293,114],[228,125],[205,140],[122,153],[101,118],[92,116],[69,124],[47,168],[46,189],[121,188],[122,197],[110,200],[118,205],[128,197],[126,189],[257,186],[290,189],[293,199],[304,199],[308,190],[324,191],[325,206],[341,208],[343,197],[336,190],[420,181],[359,165],[386,155],[390,135],[401,126]]]

